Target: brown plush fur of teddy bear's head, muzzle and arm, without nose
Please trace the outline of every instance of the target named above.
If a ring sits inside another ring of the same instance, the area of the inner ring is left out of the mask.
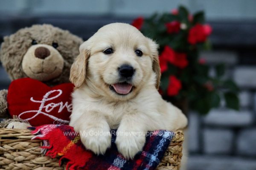
[[[32,46],[33,40],[37,42],[37,45]],[[56,49],[52,47],[53,42],[58,43]],[[43,81],[49,86],[54,86],[69,82],[70,67],[74,58],[79,54],[79,46],[82,42],[81,38],[69,31],[64,31],[49,24],[34,25],[4,37],[0,49],[0,61],[11,80],[30,77]],[[36,46],[48,48],[50,56],[45,59],[35,57],[34,48]],[[37,73],[27,75],[25,73],[27,71],[24,71],[29,70],[28,67],[33,67],[38,72],[37,70],[40,70],[39,67],[42,67],[42,63],[46,62],[45,68],[42,68],[46,75]],[[51,72],[51,68],[54,67],[58,67],[57,73],[56,71]],[[7,116],[7,93],[7,90],[0,91],[0,117]]]

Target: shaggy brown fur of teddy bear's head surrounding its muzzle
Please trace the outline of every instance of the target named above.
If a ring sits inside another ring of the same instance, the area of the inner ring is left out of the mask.
[[[52,86],[69,82],[70,67],[73,59],[79,54],[79,45],[82,43],[82,40],[70,34],[69,31],[64,31],[48,24],[23,28],[15,34],[4,37],[0,50],[0,60],[9,77],[12,80],[27,77],[21,65],[23,56],[32,45],[32,40],[36,40],[38,44],[46,45],[52,45],[52,42],[57,42],[57,50],[64,58],[62,74],[45,83]]]

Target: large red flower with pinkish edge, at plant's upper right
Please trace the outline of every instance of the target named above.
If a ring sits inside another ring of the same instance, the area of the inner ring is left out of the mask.
[[[197,42],[205,42],[209,34],[211,34],[212,28],[209,25],[196,24],[189,30],[188,42],[192,45]]]

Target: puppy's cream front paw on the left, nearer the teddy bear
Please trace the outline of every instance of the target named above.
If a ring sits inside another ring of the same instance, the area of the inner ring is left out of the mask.
[[[95,128],[84,131],[84,134],[83,131],[80,131],[80,136],[84,147],[97,155],[103,155],[111,147],[111,133],[109,130]]]

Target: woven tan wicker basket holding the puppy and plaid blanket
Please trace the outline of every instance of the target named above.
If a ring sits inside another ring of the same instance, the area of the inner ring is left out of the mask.
[[[58,159],[41,154],[41,140],[31,140],[26,129],[0,128],[0,170],[65,170]],[[157,170],[179,170],[182,157],[183,132],[178,130]]]

